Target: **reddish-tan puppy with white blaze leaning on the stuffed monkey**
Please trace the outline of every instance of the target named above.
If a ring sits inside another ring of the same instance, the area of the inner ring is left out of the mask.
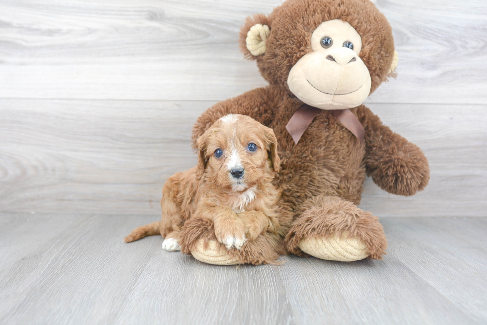
[[[145,236],[164,237],[162,248],[181,249],[185,221],[213,222],[215,237],[240,250],[265,231],[276,233],[280,192],[272,184],[279,171],[277,139],[254,119],[229,114],[198,139],[198,163],[176,173],[162,189],[162,219],[134,229],[127,243]]]

